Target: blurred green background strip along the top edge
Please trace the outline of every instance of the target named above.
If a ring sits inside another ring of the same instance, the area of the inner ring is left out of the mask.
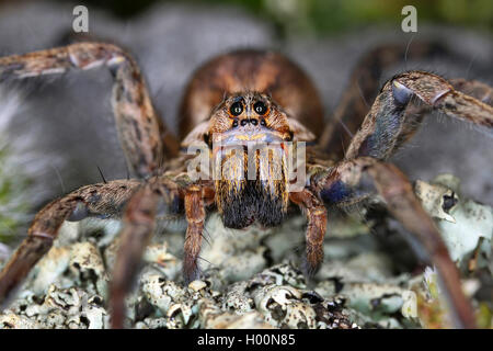
[[[59,0],[64,1],[64,0]],[[131,18],[157,2],[171,0],[89,0],[81,1]],[[174,1],[176,2],[176,1]],[[401,9],[417,9],[420,24],[452,24],[491,32],[492,0],[181,0],[203,5],[236,4],[276,24],[279,36],[287,33],[324,35],[375,23],[400,24]]]

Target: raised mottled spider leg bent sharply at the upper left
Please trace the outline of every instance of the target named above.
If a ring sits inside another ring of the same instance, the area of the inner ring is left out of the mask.
[[[1,57],[0,82],[100,66],[106,66],[114,76],[112,106],[127,162],[137,177],[152,176],[164,156],[177,155],[179,144],[157,115],[136,61],[122,48],[103,43],[77,43]]]

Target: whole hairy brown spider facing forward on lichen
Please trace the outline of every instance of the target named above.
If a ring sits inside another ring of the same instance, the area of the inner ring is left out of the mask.
[[[416,55],[432,52],[423,46]],[[323,260],[328,212],[380,196],[440,273],[456,325],[474,327],[459,272],[439,231],[406,177],[386,160],[414,134],[431,110],[491,128],[493,109],[483,101],[491,99],[492,89],[478,81],[447,81],[413,70],[388,80],[370,107],[362,104],[360,94],[372,99],[381,70],[402,56],[402,47],[386,46],[364,57],[334,117],[324,125],[313,83],[287,57],[255,49],[219,55],[198,68],[186,88],[180,113],[181,144],[154,111],[136,61],[116,45],[83,42],[0,58],[0,81],[108,68],[114,77],[112,106],[118,138],[136,176],[82,186],[41,210],[27,238],[0,273],[0,303],[7,304],[50,249],[65,220],[122,218],[122,244],[110,292],[112,326],[122,328],[124,297],[131,288],[162,204],[185,215],[183,274],[185,282],[191,282],[200,278],[198,256],[208,211],[217,210],[226,227],[244,228],[254,222],[277,226],[289,205],[298,206],[308,223],[301,269],[311,276]],[[357,83],[360,89],[355,89]],[[346,137],[344,149],[339,145],[340,122],[360,126],[352,139]],[[278,157],[254,152],[253,159],[246,160],[254,166],[254,176],[262,173],[263,178],[236,178],[246,170],[222,152],[228,146],[243,147],[245,141],[306,143],[306,161],[299,166],[307,174],[302,186],[290,188],[294,180],[288,176],[284,146],[274,147]],[[209,159],[218,157],[218,178],[191,177],[187,170],[195,158],[184,148],[193,145],[205,146]]]

